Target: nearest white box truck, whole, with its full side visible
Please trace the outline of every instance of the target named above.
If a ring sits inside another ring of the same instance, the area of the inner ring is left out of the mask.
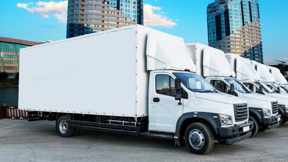
[[[182,38],[140,25],[21,49],[19,108],[56,120],[62,137],[79,129],[185,141],[205,154],[232,144],[253,123],[245,100],[214,93]],[[213,92],[213,93],[211,93]],[[242,111],[242,110],[241,110]],[[32,119],[38,120],[39,118]]]

